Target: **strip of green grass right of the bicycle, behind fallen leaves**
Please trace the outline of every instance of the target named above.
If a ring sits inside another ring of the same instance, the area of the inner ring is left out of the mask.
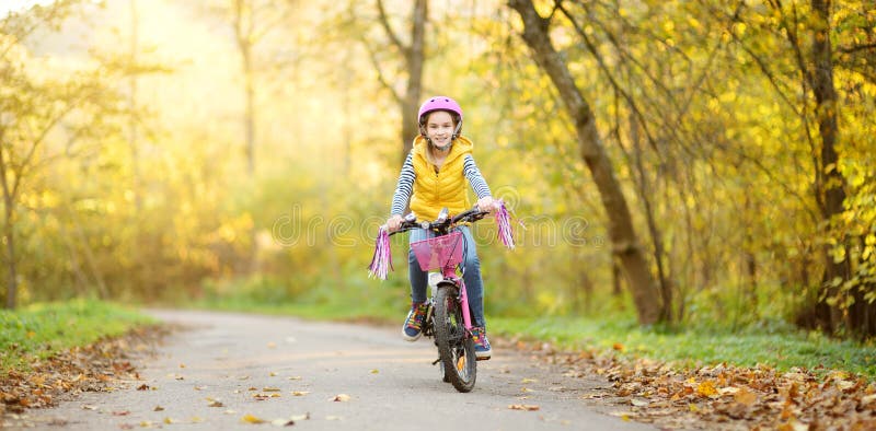
[[[816,373],[844,370],[876,376],[876,347],[872,342],[835,340],[783,325],[729,329],[666,330],[641,328],[632,318],[498,318],[491,331],[507,337],[549,341],[558,349],[593,349],[625,358],[671,361],[681,368],[728,363],[764,364],[787,371]],[[622,347],[621,351],[614,348]]]

